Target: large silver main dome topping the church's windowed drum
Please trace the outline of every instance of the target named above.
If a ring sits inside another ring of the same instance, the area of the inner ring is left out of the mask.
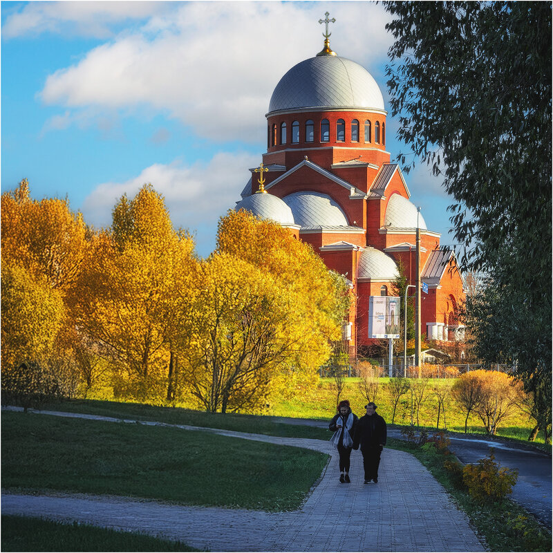
[[[384,111],[384,99],[364,67],[346,57],[316,56],[292,67],[269,103],[269,113],[306,108]]]

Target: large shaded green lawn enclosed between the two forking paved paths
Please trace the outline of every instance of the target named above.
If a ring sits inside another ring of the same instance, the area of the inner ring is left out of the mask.
[[[297,509],[328,456],[140,424],[2,413],[2,487]]]

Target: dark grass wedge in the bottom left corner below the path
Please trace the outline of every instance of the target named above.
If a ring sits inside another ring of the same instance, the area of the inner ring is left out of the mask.
[[[180,541],[86,524],[2,515],[2,551],[198,551]]]

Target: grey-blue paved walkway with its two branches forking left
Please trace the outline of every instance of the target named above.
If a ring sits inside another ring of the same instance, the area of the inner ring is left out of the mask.
[[[118,420],[94,415],[85,417]],[[147,532],[212,552],[485,551],[465,514],[453,505],[438,482],[409,453],[384,449],[378,484],[364,484],[362,456],[353,451],[352,483],[346,485],[338,481],[337,453],[329,442],[181,428],[307,447],[329,453],[332,458],[306,503],[295,512],[274,514],[245,509],[184,507],[113,496],[30,496],[3,491],[2,514],[45,516]]]

